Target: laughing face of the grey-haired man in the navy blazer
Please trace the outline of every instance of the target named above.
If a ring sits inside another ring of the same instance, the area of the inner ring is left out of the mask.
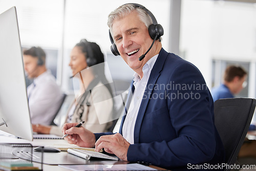
[[[151,50],[142,61],[138,60],[150,48],[153,40],[135,11],[114,21],[112,36],[123,60],[137,73],[155,55],[155,51]]]

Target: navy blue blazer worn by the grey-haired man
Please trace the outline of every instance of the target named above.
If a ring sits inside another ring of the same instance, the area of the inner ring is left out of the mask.
[[[110,133],[95,136],[106,134]],[[214,102],[202,74],[193,64],[163,49],[147,82],[127,160],[168,169],[225,160],[214,124]]]

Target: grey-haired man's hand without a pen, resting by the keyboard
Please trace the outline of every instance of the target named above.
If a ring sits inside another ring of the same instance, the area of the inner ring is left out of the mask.
[[[121,134],[101,136],[95,143],[95,151],[100,152],[104,148],[105,152],[115,154],[119,159],[127,161],[127,151],[130,143]]]

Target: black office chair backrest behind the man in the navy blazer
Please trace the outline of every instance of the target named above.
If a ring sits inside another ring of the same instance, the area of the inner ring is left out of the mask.
[[[251,98],[219,99],[214,103],[215,125],[225,148],[227,165],[233,165],[249,129],[256,100]],[[225,168],[225,171],[230,169]]]

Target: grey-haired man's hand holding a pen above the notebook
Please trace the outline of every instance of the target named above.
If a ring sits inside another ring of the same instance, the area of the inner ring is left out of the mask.
[[[84,127],[74,127],[78,123],[65,123],[62,127],[63,135],[69,134],[64,139],[70,144],[75,144],[82,147],[94,147],[95,136],[92,132]]]

